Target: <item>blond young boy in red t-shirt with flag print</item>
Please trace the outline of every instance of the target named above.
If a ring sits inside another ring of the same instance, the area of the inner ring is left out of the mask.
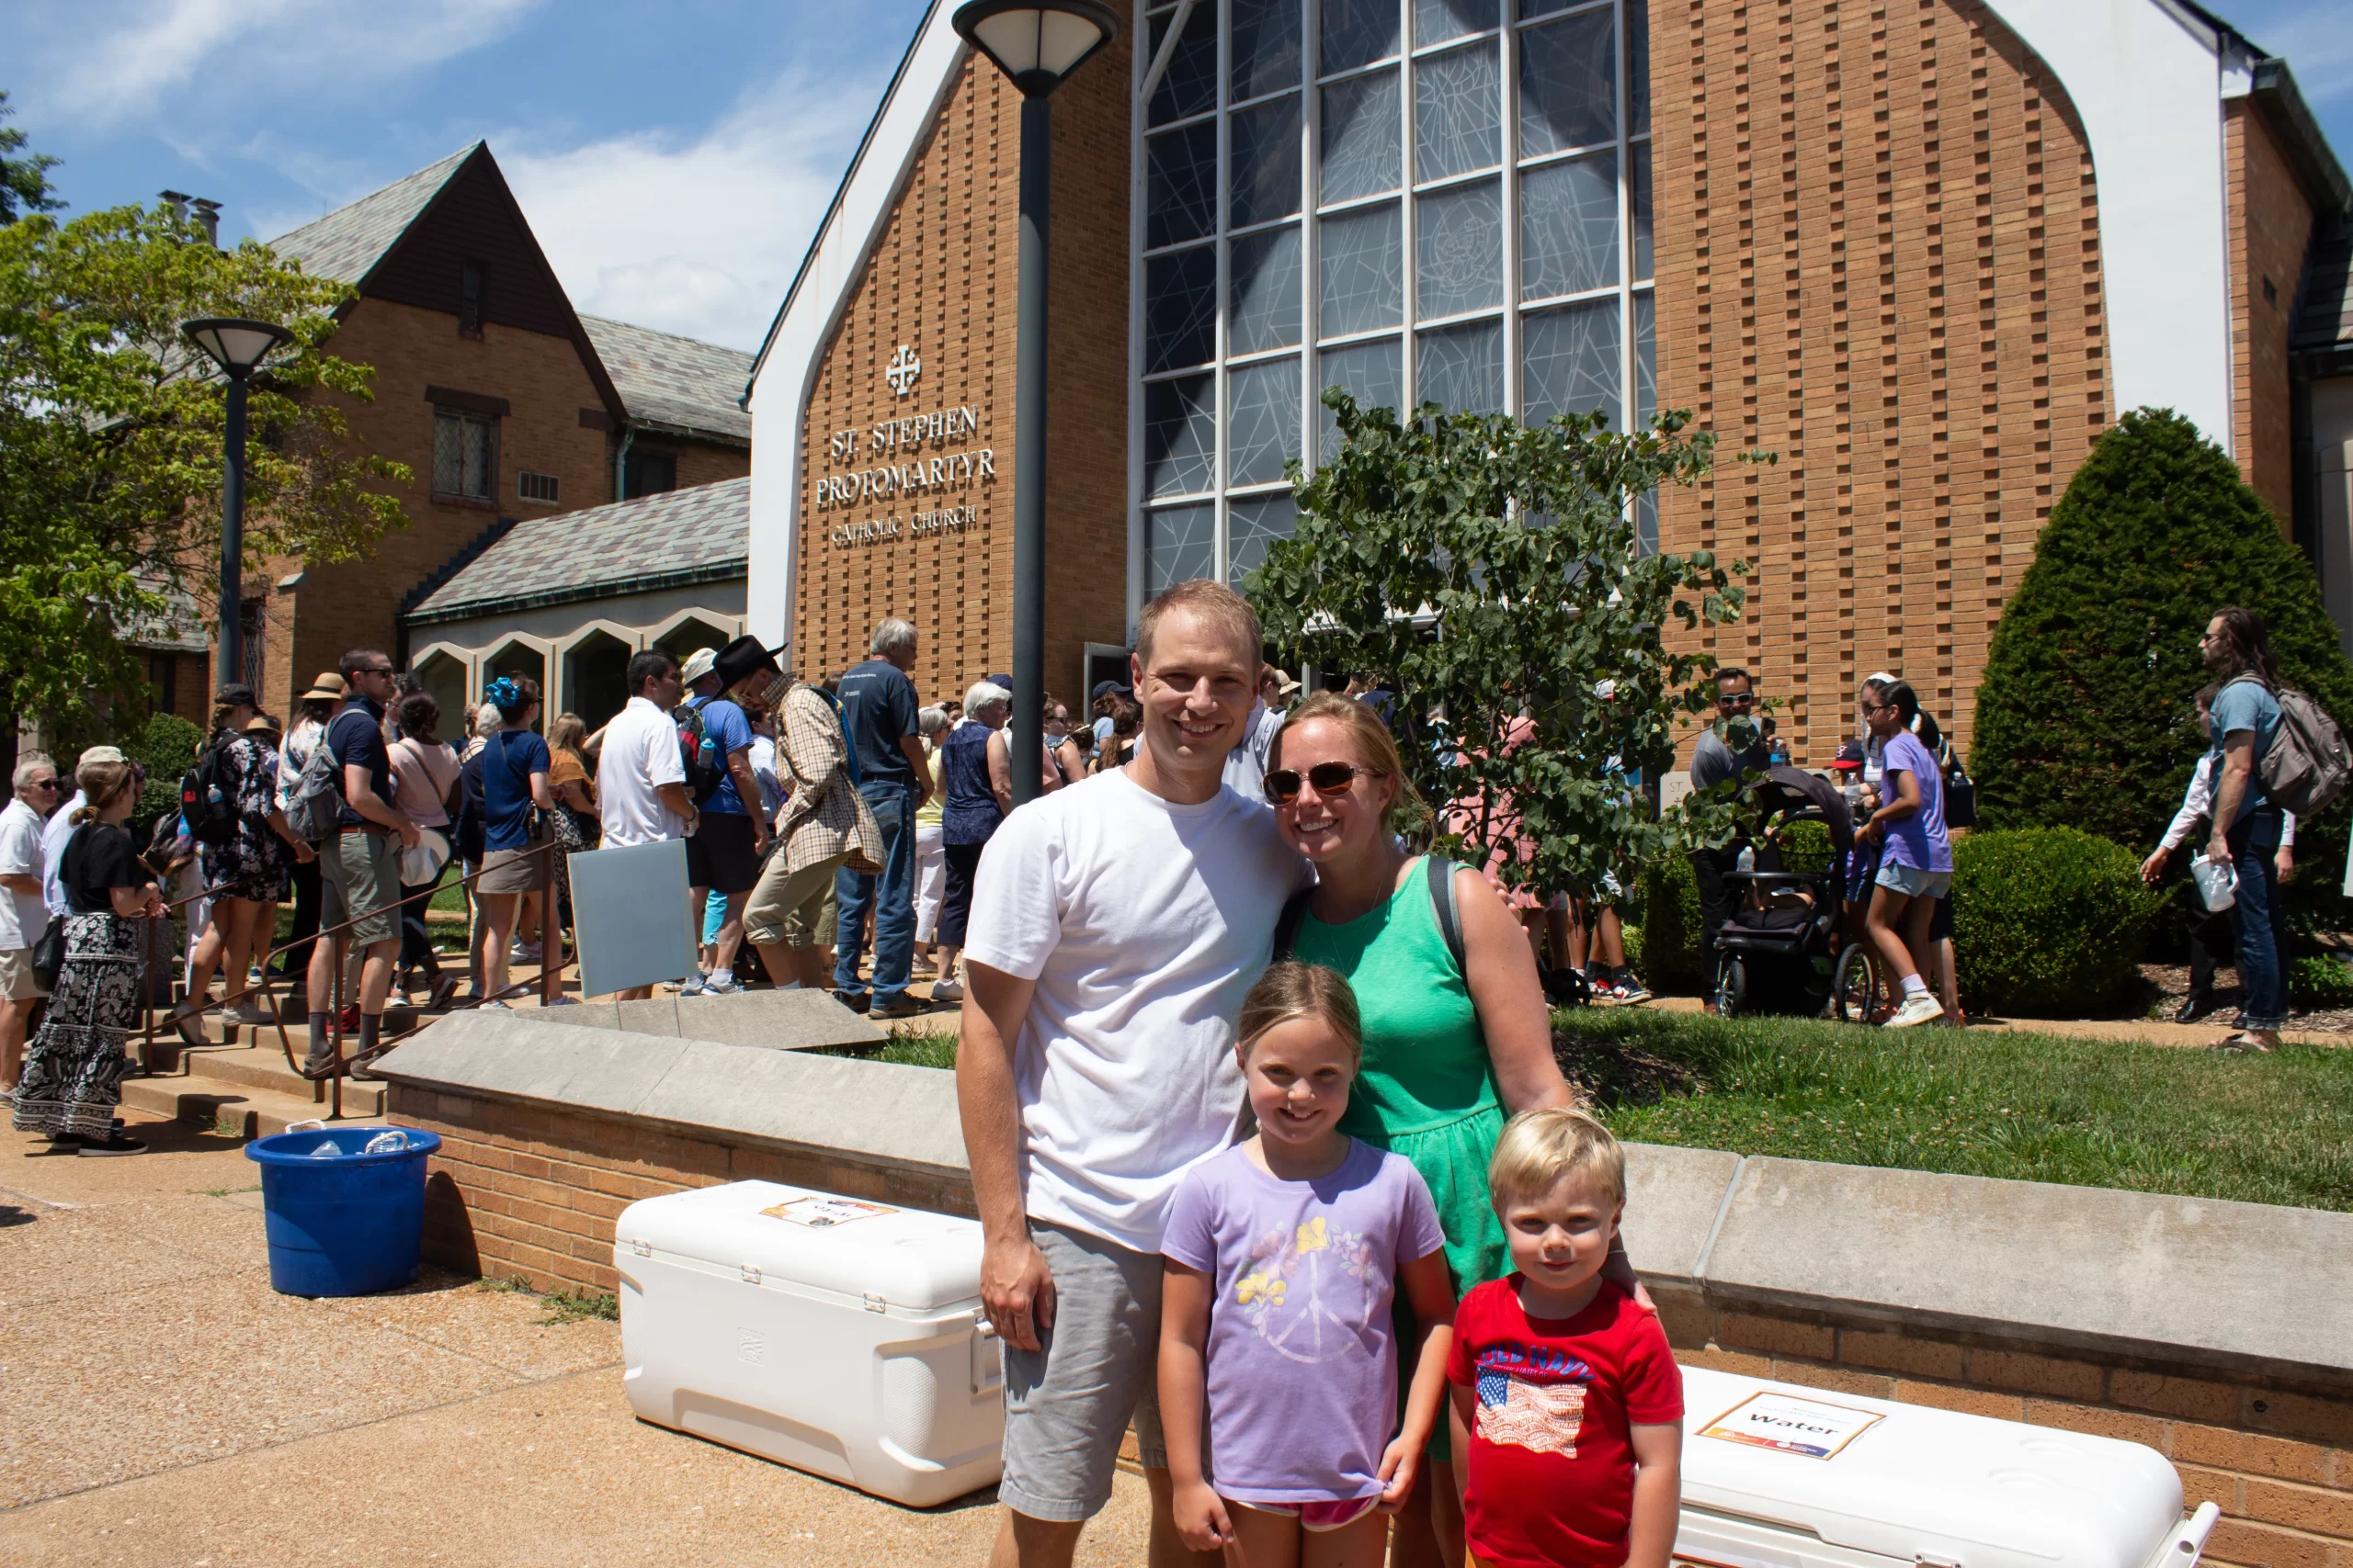
[[[1447,1382],[1471,1432],[1478,1568],[1668,1568],[1682,1373],[1659,1319],[1602,1279],[1626,1154],[1579,1110],[1513,1117],[1487,1190],[1513,1274],[1454,1309]]]

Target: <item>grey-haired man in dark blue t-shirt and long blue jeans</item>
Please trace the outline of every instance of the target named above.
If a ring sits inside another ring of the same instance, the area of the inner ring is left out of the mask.
[[[842,675],[842,726],[856,757],[859,795],[882,830],[882,875],[861,877],[840,870],[833,896],[840,903],[840,957],[833,964],[833,994],[859,1013],[875,1018],[913,1018],[922,1004],[906,994],[906,976],[915,961],[915,811],[932,792],[922,757],[915,682],[915,628],[892,616],[875,628],[873,658]],[[873,997],[859,980],[859,957],[866,952],[866,910],[875,917]]]

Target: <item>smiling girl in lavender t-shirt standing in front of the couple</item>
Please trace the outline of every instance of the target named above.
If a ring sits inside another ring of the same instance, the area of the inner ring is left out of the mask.
[[[1379,1561],[1445,1399],[1445,1232],[1409,1161],[1339,1131],[1360,1058],[1339,973],[1268,966],[1235,1032],[1259,1131],[1193,1166],[1160,1241],[1176,1528],[1245,1566]],[[1421,1324],[1402,1429],[1400,1288]]]

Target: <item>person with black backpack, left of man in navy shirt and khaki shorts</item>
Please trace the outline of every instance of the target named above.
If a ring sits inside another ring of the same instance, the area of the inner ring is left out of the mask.
[[[235,1004],[228,1020],[273,1018],[245,992],[245,976],[256,947],[268,952],[275,936],[287,870],[315,858],[278,809],[278,759],[268,745],[245,733],[256,710],[252,686],[221,686],[212,698],[212,738],[179,788],[179,813],[195,839],[205,886],[212,889],[205,933],[188,954],[186,999],[167,1020],[191,1046],[209,1044],[202,1016],[212,1004],[212,976],[224,969],[224,959],[228,994],[221,1001]]]

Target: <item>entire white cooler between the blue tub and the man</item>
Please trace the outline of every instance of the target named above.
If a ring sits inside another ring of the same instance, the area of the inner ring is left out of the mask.
[[[913,1507],[995,1486],[974,1220],[732,1182],[631,1204],[614,1234],[640,1420]]]

